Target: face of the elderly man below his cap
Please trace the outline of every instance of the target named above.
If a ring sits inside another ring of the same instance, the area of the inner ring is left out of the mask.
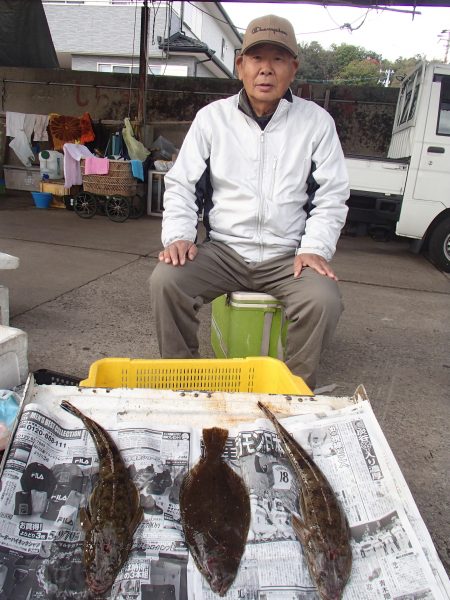
[[[239,79],[244,84],[258,116],[272,113],[295,78],[298,60],[273,44],[259,44],[236,59]]]

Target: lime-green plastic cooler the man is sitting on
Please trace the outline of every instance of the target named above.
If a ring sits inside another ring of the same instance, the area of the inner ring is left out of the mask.
[[[232,292],[212,302],[211,345],[217,358],[283,360],[286,328],[283,305],[269,294]]]

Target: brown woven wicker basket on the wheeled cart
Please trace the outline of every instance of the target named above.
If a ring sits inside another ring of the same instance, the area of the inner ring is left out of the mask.
[[[137,181],[133,177],[130,161],[110,160],[107,175],[85,175],[84,160],[81,159],[83,189],[100,196],[135,196]]]

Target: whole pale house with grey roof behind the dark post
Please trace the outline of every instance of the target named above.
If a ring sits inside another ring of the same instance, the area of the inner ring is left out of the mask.
[[[138,73],[141,0],[44,0],[60,67]],[[242,38],[220,2],[148,2],[150,75],[234,77]]]

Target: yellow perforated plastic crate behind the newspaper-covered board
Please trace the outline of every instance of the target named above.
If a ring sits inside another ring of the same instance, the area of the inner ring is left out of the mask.
[[[301,377],[267,356],[227,359],[103,358],[82,387],[151,388],[313,396]]]

